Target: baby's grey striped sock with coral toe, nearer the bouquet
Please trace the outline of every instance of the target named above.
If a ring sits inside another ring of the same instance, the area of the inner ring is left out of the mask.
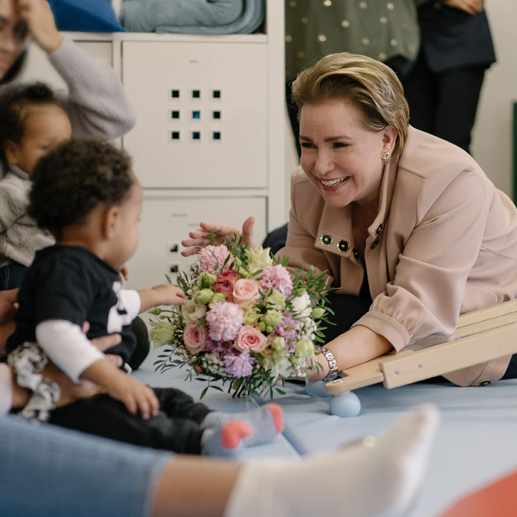
[[[251,427],[251,435],[243,442],[246,447],[268,443],[284,429],[284,414],[278,404],[266,404],[242,413],[210,412],[201,427],[219,429],[230,420],[243,422]]]

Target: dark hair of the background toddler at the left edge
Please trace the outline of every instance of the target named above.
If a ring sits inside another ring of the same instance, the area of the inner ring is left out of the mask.
[[[12,140],[19,144],[24,135],[25,122],[30,112],[24,112],[28,106],[53,104],[61,108],[61,101],[44,83],[22,83],[3,87],[0,93],[0,153],[6,160],[4,144]]]

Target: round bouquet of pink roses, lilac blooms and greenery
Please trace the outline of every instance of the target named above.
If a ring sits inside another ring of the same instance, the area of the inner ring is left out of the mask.
[[[187,378],[212,387],[229,383],[232,396],[285,393],[285,378],[306,378],[307,359],[323,343],[328,323],[325,272],[289,273],[269,248],[250,249],[241,237],[206,246],[189,273],[178,275],[186,303],[151,310],[155,370],[188,367]],[[167,277],[169,283],[170,278]],[[316,366],[308,366],[316,368]]]

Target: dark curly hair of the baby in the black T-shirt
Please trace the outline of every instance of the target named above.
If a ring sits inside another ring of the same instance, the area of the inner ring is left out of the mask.
[[[28,214],[59,236],[99,204],[121,205],[136,178],[125,151],[94,138],[73,138],[44,155],[31,176]]]

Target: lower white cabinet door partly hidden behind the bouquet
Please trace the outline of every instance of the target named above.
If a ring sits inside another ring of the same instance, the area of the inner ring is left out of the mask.
[[[240,228],[246,217],[255,216],[255,239],[266,235],[266,198],[214,195],[210,198],[174,197],[173,194],[144,191],[139,221],[140,242],[128,262],[128,289],[147,289],[166,282],[165,274],[188,271],[196,257],[180,255],[180,242],[201,221],[221,221]]]

